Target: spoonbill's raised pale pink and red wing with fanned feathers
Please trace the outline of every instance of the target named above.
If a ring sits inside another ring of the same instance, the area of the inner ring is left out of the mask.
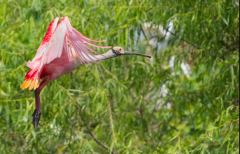
[[[54,23],[57,22],[55,21]],[[99,55],[101,54],[86,44],[100,48],[111,48],[110,46],[99,46],[89,41],[96,40],[92,40],[74,29],[71,26],[68,17],[62,18],[62,21],[57,25],[57,28],[55,28],[53,34],[48,35],[46,41],[42,42],[34,59],[29,61],[27,66],[31,69],[38,70],[37,79],[39,79],[43,66],[45,64],[49,64],[54,59],[61,57],[63,51],[67,52],[69,61],[71,61],[74,59],[72,50],[72,48],[74,48],[79,62],[81,64],[90,64],[91,62],[97,61],[96,57],[94,57],[91,52]]]

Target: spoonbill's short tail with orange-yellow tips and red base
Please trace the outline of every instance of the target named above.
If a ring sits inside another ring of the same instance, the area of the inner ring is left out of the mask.
[[[24,82],[21,85],[22,89],[29,87],[29,90],[37,89],[39,87],[40,81],[38,80],[37,70],[30,69],[25,76]]]

